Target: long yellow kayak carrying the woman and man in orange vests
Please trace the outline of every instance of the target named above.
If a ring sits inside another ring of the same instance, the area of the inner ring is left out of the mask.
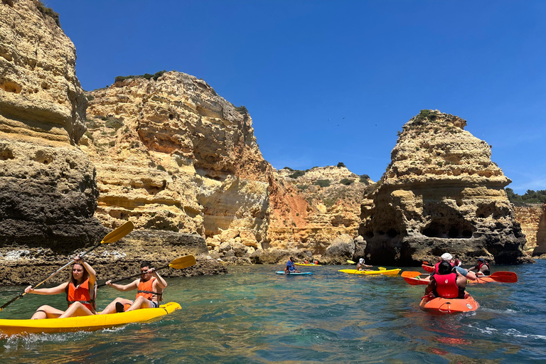
[[[158,309],[139,309],[119,314],[67,317],[66,319],[11,320],[0,319],[0,337],[21,333],[64,333],[70,331],[95,331],[102,328],[122,326],[127,323],[144,322],[171,314],[181,309],[176,302],[162,304]]]

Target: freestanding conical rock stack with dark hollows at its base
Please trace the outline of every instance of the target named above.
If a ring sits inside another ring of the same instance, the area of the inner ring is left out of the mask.
[[[423,110],[407,122],[391,164],[362,204],[359,232],[370,262],[419,264],[444,252],[473,262],[529,262],[525,237],[491,161],[466,121]]]

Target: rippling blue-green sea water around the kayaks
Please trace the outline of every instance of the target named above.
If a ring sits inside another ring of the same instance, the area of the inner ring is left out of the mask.
[[[215,277],[168,279],[166,301],[182,309],[159,321],[92,333],[0,340],[0,363],[545,363],[546,261],[495,266],[515,284],[467,287],[481,307],[433,315],[419,309],[424,286],[399,277],[355,276],[348,266],[228,267]],[[303,269],[305,268],[305,269]],[[419,270],[408,268],[403,270]],[[23,287],[0,289],[0,304]],[[133,292],[100,289],[98,305]],[[64,297],[26,295],[1,311],[23,319]]]

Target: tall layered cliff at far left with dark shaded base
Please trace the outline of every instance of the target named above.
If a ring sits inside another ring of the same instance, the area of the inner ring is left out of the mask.
[[[0,247],[100,241],[73,43],[39,1],[0,2]],[[3,250],[4,251],[4,250]],[[5,253],[5,252],[4,252]]]

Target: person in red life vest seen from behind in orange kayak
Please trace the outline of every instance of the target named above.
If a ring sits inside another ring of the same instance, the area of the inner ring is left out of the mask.
[[[438,272],[430,278],[424,294],[434,294],[444,299],[464,299],[467,279],[476,280],[476,274],[461,267],[451,267],[449,262],[441,262]]]

